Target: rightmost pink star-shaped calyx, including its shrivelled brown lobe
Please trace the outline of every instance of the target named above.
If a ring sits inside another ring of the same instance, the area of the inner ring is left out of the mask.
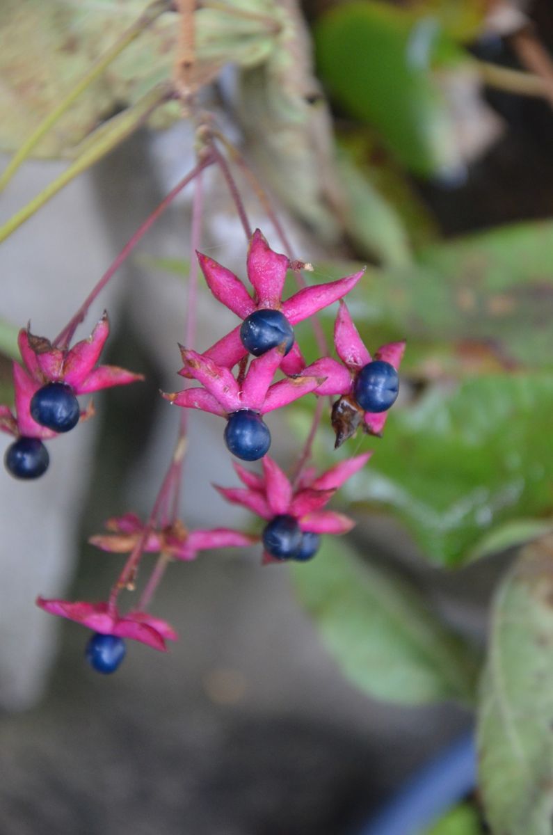
[[[326,377],[322,386],[317,388],[316,394],[341,395],[332,409],[332,426],[336,432],[336,446],[339,447],[356,433],[362,422],[365,432],[378,436],[382,434],[388,412],[363,410],[354,397],[355,381],[358,373],[373,359],[388,362],[398,371],[405,351],[405,342],[388,342],[379,347],[374,357],[371,357],[353,324],[348,306],[345,301],[340,301],[334,325],[334,344],[342,362],[337,362],[332,357],[322,357],[305,367],[302,374],[321,374]]]

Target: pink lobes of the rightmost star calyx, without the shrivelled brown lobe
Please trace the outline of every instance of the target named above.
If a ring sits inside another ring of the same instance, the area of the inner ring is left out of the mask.
[[[358,404],[353,403],[355,379],[361,369],[372,362],[372,359],[389,362],[398,371],[399,363],[405,351],[405,342],[388,342],[386,345],[379,347],[374,357],[371,357],[368,348],[359,336],[358,329],[353,324],[348,306],[345,301],[340,301],[340,309],[334,325],[334,344],[337,355],[342,362],[337,362],[332,357],[323,357],[305,367],[302,373],[320,374],[322,377],[326,377],[325,382],[317,388],[315,393],[320,395],[340,394],[342,397],[348,398],[350,406],[357,408],[362,413],[366,431],[372,435],[380,435],[384,423],[386,423],[388,412],[364,412]],[[343,440],[346,440],[346,438],[343,438]]]

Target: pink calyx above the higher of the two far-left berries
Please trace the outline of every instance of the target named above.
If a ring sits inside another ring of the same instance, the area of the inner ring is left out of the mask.
[[[18,344],[28,375],[37,388],[48,382],[63,382],[75,394],[88,394],[101,388],[125,386],[129,382],[143,380],[142,374],[134,374],[124,368],[96,367],[108,336],[109,320],[104,312],[90,337],[67,350],[53,347],[46,337],[36,337],[24,328],[19,331]]]

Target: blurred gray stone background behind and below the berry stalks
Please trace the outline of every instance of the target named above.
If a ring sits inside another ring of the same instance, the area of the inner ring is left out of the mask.
[[[0,249],[0,315],[30,318],[39,334],[60,330],[190,167],[189,139],[182,128],[134,139],[18,230]],[[2,216],[59,168],[28,164],[3,196]],[[206,192],[203,249],[242,271],[241,228],[211,173]],[[142,252],[188,256],[188,200],[160,220]],[[252,219],[263,220],[253,211]],[[302,256],[315,259],[312,242],[288,229]],[[180,641],[168,655],[132,645],[111,677],[85,665],[86,630],[33,605],[39,593],[105,596],[120,561],[86,538],[108,515],[147,512],[175,436],[178,416],[156,392],[178,387],[184,284],[132,259],[80,337],[104,306],[112,361],[146,372],[148,382],[95,397],[97,417],[51,445],[52,465],[39,482],[0,478],[0,832],[353,833],[469,716],[454,706],[385,706],[354,691],[293,600],[286,569],[261,569],[256,549],[172,566],[153,610]],[[200,348],[230,324],[202,294]],[[240,514],[209,487],[233,483],[220,422],[194,415],[190,433],[185,520],[238,527]],[[279,447],[286,456],[282,438]],[[500,563],[446,577],[424,568],[385,520],[363,527],[358,536],[373,551],[395,559],[452,619],[482,635]]]

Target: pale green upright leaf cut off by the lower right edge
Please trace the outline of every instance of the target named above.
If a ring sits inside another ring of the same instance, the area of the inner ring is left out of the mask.
[[[553,538],[529,545],[495,598],[478,717],[479,787],[495,835],[550,835]]]

